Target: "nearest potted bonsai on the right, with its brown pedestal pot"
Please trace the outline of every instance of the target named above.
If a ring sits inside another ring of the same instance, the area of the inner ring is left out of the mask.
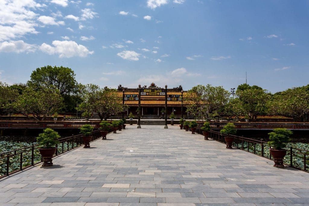
[[[268,145],[270,154],[273,156],[274,167],[284,167],[283,159],[286,156],[286,144],[290,142],[290,135],[293,132],[286,128],[276,128],[273,132],[268,133],[269,142]]]

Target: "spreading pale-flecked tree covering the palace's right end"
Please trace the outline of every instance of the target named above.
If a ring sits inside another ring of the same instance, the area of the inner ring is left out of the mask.
[[[216,115],[228,102],[230,93],[221,86],[197,85],[188,90],[185,101],[190,101],[187,111],[195,119],[208,120],[210,116]]]

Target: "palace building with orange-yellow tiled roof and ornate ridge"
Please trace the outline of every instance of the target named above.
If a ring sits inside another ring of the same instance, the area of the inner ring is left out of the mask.
[[[174,87],[172,89],[160,88],[151,83],[150,86],[140,86],[138,88],[127,88],[121,85],[118,86],[118,95],[122,96],[123,103],[129,106],[127,115],[132,112],[133,115],[137,115],[137,109],[140,101],[141,115],[149,117],[162,116],[162,109],[165,109],[165,103],[167,103],[167,115],[172,112],[176,116],[183,115],[186,117],[186,105],[188,102],[183,101],[183,97],[186,96],[186,91],[182,90],[182,86]],[[182,113],[181,113],[182,111]]]

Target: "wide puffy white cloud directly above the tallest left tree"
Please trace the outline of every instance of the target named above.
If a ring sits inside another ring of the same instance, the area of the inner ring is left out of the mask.
[[[87,47],[77,44],[75,41],[53,41],[53,46],[43,43],[40,50],[52,55],[59,54],[60,58],[66,57],[87,57],[88,54],[93,54],[94,51],[89,51]]]

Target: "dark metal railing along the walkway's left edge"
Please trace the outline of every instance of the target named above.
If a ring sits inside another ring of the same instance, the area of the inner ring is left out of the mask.
[[[93,131],[92,140],[94,141],[101,137],[101,129]],[[83,145],[83,135],[72,135],[70,137],[64,137],[59,139],[56,153],[54,156],[65,153]],[[40,145],[34,145],[23,147],[20,149],[11,150],[8,152],[0,153],[0,178],[6,177],[15,172],[24,170],[28,167],[34,166],[42,162],[42,157],[39,153]],[[1,167],[2,165],[2,167]]]

